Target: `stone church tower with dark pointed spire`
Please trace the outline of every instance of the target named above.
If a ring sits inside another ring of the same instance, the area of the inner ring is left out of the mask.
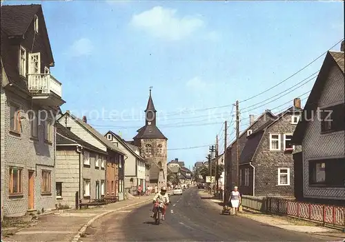
[[[150,164],[150,183],[158,188],[166,186],[167,141],[168,139],[157,128],[157,110],[153,104],[150,88],[148,105],[145,110],[145,125],[137,130],[133,138],[135,145],[141,148],[141,157]]]

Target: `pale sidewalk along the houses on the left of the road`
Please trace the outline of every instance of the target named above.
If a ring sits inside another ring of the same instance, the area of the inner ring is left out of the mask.
[[[153,196],[152,194],[150,196],[135,196],[125,201],[95,208],[43,214],[39,216],[37,221],[33,221],[30,227],[23,228],[13,236],[3,238],[1,241],[77,241],[79,236],[76,235],[85,232],[87,226],[95,219],[115,210],[148,203]]]

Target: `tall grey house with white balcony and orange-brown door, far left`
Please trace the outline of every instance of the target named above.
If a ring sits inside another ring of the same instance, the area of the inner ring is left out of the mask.
[[[54,65],[41,5],[1,6],[1,216],[55,208]]]

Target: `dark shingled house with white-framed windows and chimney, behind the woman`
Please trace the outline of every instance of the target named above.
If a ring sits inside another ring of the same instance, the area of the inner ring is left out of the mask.
[[[266,121],[247,137],[239,160],[239,190],[252,196],[293,196],[293,132],[301,117],[301,100]]]

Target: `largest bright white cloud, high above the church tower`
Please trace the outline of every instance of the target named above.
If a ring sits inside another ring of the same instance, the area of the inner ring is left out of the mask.
[[[154,37],[169,41],[189,37],[204,26],[204,21],[199,17],[178,17],[177,10],[160,6],[133,15],[130,23]]]

